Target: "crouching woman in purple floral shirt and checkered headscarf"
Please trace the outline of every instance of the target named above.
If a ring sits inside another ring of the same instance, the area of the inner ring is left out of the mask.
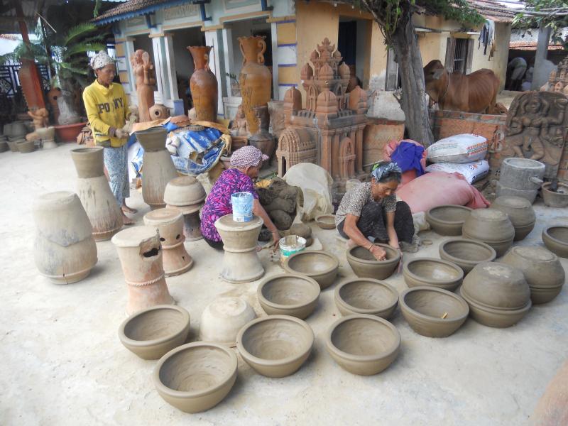
[[[264,225],[271,231],[274,245],[278,244],[280,240],[278,229],[258,201],[253,182],[253,179],[258,178],[258,171],[266,160],[268,155],[264,155],[254,146],[244,146],[231,155],[231,168],[219,175],[201,211],[201,233],[209,246],[214,249],[223,248],[223,241],[215,228],[215,221],[233,212],[231,195],[235,192],[250,192],[253,195],[253,214],[263,219]]]

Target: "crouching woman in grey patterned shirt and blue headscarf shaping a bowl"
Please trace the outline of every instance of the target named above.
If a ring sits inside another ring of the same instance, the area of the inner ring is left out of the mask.
[[[413,241],[414,222],[408,204],[396,201],[395,190],[402,175],[400,167],[381,161],[373,166],[371,175],[371,182],[346,192],[335,214],[335,226],[348,239],[348,248],[364,247],[382,261],[386,259],[386,251],[373,242],[388,243],[400,251],[400,242]]]

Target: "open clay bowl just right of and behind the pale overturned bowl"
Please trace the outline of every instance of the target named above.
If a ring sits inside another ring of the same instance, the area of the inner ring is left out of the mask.
[[[320,285],[305,275],[283,273],[265,278],[258,285],[256,296],[268,315],[290,315],[303,320],[315,310]]]

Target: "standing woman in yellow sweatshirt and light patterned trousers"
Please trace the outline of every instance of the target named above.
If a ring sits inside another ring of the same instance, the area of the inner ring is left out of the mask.
[[[122,128],[129,111],[128,101],[122,85],[112,82],[116,66],[104,50],[92,58],[91,67],[97,79],[83,91],[84,107],[93,131],[94,143],[104,147],[104,167],[109,174],[112,193],[121,207],[124,224],[133,224],[133,220],[125,214],[136,213],[135,209],[126,206],[125,201],[130,197],[129,134]]]

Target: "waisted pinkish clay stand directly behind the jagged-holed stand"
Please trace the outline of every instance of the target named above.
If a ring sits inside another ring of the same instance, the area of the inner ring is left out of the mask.
[[[183,243],[183,215],[177,209],[157,209],[144,214],[144,224],[153,226],[160,234],[163,249],[165,276],[180,275],[189,271],[193,259]]]

